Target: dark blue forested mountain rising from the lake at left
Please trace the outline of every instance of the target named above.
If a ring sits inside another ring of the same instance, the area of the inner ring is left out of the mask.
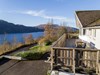
[[[28,27],[20,24],[13,24],[4,20],[0,20],[0,34],[3,33],[29,33],[44,31],[38,27]]]

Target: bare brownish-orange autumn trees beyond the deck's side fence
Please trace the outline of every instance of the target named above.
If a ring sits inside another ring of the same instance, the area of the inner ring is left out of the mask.
[[[45,39],[51,42],[56,41],[62,34],[67,33],[66,26],[55,27],[52,23],[45,26]]]

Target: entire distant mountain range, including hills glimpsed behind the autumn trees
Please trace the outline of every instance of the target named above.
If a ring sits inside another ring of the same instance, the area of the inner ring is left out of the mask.
[[[4,33],[30,33],[30,32],[41,32],[47,24],[40,24],[34,27],[28,27],[20,24],[10,23],[4,20],[0,20],[0,34]],[[58,24],[53,24],[53,27],[59,27]],[[73,27],[67,27],[68,31],[76,31],[78,29]]]

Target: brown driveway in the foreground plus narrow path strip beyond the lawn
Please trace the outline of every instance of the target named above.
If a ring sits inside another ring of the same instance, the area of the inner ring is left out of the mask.
[[[28,50],[31,46],[17,49],[14,52],[7,53],[12,55],[19,51]],[[45,54],[41,60],[18,61],[18,60],[0,60],[0,75],[47,75],[50,64],[45,63],[49,54]]]

